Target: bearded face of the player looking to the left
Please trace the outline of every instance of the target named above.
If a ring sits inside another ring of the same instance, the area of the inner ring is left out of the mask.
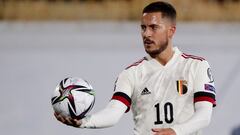
[[[163,52],[175,33],[175,25],[161,12],[144,13],[141,20],[142,38],[145,51],[152,57]]]

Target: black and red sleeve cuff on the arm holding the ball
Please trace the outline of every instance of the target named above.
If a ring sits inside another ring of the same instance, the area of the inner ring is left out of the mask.
[[[116,92],[113,94],[112,100],[118,100],[118,101],[122,102],[123,104],[125,104],[128,107],[126,112],[128,112],[130,110],[131,98],[127,94],[125,94],[123,92]]]

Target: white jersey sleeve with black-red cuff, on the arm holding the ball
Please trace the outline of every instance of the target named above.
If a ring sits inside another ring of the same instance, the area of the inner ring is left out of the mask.
[[[128,70],[124,70],[119,74],[115,86],[114,93],[111,100],[118,100],[127,106],[126,112],[130,110],[131,96],[133,91],[133,81]]]

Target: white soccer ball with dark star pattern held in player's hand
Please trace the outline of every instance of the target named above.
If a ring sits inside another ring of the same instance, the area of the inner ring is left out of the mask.
[[[95,93],[85,80],[69,77],[62,80],[51,98],[53,110],[62,116],[82,119],[92,109]]]

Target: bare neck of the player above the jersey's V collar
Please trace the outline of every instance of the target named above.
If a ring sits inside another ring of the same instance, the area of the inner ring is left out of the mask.
[[[171,44],[169,44],[162,53],[155,57],[155,59],[162,65],[166,65],[168,61],[173,57],[173,54],[173,47]]]

